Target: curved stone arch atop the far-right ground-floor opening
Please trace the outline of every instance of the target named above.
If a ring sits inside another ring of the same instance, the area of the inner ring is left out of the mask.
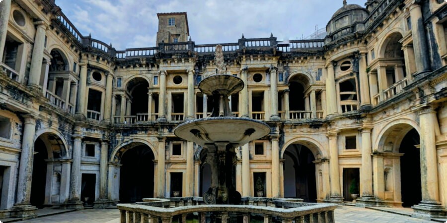
[[[398,150],[398,146],[400,145],[403,137],[406,133],[408,133],[412,128],[416,129],[416,131],[420,134],[419,125],[416,121],[408,119],[408,118],[400,118],[394,121],[389,122],[386,124],[379,134],[377,135],[376,142],[373,145],[373,150],[376,151],[383,151],[388,148],[385,148],[385,146],[391,147],[389,150],[390,152],[396,152]],[[397,136],[394,136],[396,131],[399,131],[399,134]],[[392,145],[389,144],[389,142],[386,142],[388,140],[388,136],[393,137]]]

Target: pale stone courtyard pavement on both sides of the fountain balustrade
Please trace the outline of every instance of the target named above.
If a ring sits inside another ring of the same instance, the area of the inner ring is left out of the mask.
[[[343,206],[335,210],[336,223],[434,223],[371,209]],[[117,209],[87,209],[47,216],[20,223],[119,223]]]

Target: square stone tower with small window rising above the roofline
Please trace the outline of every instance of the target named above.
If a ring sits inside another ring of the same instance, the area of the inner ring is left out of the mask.
[[[186,12],[157,13],[157,42],[177,43],[188,41],[189,27]]]

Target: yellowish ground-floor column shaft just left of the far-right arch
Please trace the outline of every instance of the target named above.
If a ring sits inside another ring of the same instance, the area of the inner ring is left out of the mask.
[[[371,158],[371,127],[362,127],[362,173],[360,174],[360,184],[362,185],[361,196],[365,198],[373,197],[373,161]]]

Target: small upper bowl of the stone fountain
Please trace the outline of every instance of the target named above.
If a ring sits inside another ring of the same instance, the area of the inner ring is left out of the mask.
[[[242,79],[228,74],[214,74],[199,83],[199,89],[206,95],[230,96],[238,93],[244,88]]]

